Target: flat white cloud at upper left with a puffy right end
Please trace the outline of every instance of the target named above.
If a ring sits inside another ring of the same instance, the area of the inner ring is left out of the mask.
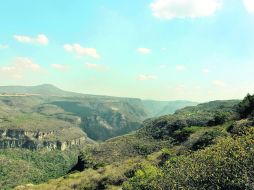
[[[23,35],[14,35],[15,40],[21,43],[27,44],[39,44],[39,45],[48,45],[49,39],[45,34],[38,34],[36,37],[23,36]]]

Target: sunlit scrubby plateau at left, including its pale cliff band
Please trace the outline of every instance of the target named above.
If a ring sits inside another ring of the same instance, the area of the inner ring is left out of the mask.
[[[69,116],[72,120],[67,121],[36,113],[44,101],[36,96],[0,97],[0,148],[65,150],[89,141],[78,128],[79,118]]]

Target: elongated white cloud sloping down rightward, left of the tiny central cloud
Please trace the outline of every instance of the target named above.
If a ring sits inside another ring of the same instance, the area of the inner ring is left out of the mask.
[[[65,44],[64,49],[67,52],[74,52],[78,56],[90,56],[97,59],[100,58],[100,55],[97,53],[95,48],[85,48],[80,44]]]

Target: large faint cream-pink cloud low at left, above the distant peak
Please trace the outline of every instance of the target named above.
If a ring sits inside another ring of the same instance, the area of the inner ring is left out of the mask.
[[[32,59],[27,57],[17,57],[10,65],[0,67],[0,74],[20,79],[27,72],[34,73],[41,70],[42,68],[40,65],[34,63]]]

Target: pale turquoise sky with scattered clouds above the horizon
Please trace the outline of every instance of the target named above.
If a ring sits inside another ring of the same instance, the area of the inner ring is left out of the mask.
[[[254,0],[0,0],[0,86],[202,102],[252,83]]]

